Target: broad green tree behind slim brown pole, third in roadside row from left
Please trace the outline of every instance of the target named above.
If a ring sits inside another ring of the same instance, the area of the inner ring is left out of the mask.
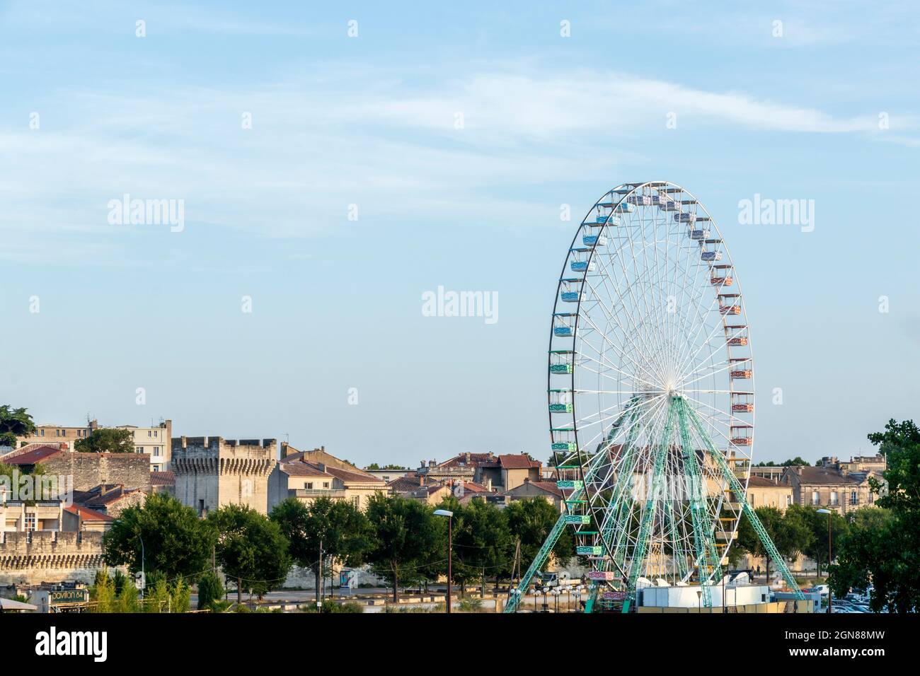
[[[320,547],[324,558],[331,556],[342,566],[360,566],[374,537],[362,511],[343,500],[316,498],[306,506],[288,498],[271,510],[270,519],[288,539],[293,562],[313,571],[317,601]]]

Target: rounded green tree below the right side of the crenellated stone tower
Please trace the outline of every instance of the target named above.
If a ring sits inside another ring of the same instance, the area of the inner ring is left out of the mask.
[[[291,569],[288,541],[279,525],[258,511],[227,505],[208,514],[217,534],[216,556],[224,574],[236,579],[236,601],[243,590],[261,598],[280,587]]]

